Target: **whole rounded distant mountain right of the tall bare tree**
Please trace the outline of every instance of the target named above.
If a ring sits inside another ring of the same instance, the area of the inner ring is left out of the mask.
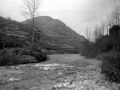
[[[29,24],[29,22],[30,20],[26,20],[22,23]],[[80,48],[81,42],[85,40],[84,36],[76,33],[62,21],[49,16],[35,17],[35,25],[44,34],[41,41],[49,44]]]

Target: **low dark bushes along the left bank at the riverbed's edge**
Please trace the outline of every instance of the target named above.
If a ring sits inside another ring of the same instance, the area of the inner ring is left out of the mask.
[[[46,59],[46,54],[25,48],[6,48],[0,51],[0,66],[37,63]]]

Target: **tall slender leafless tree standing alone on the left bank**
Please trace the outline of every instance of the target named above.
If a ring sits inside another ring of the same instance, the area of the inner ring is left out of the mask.
[[[34,42],[34,34],[35,34],[35,16],[37,14],[37,11],[39,9],[40,0],[23,0],[24,6],[23,6],[23,15],[28,20],[28,18],[31,18],[29,20],[32,28],[32,43]]]

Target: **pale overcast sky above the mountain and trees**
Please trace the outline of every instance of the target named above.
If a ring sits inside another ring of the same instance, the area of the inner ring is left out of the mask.
[[[23,0],[0,0],[0,16],[24,21],[21,13]],[[120,0],[40,0],[38,16],[51,16],[63,21],[77,33],[85,36],[120,4]]]

